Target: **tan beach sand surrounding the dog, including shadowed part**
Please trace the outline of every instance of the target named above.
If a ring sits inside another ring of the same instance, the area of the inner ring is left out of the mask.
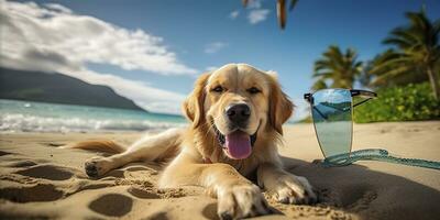
[[[383,162],[324,168],[311,124],[287,125],[280,148],[287,170],[317,188],[314,206],[279,205],[261,219],[438,219],[440,170]],[[353,148],[382,147],[440,161],[440,122],[355,124]],[[0,138],[0,219],[217,219],[217,201],[202,188],[157,189],[160,164],[134,163],[90,179],[86,158],[62,150],[89,139],[130,144],[141,133],[15,133]]]

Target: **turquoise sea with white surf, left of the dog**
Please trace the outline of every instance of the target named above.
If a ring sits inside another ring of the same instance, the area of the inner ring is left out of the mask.
[[[145,131],[186,123],[172,114],[0,99],[1,132]]]

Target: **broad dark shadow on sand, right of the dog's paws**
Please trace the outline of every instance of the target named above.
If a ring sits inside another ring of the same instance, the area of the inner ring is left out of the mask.
[[[283,157],[288,172],[305,176],[318,190],[320,202],[353,213],[361,219],[438,219],[440,191],[406,177],[352,164],[322,167],[319,163]],[[376,163],[376,162],[373,162]],[[378,163],[378,162],[377,162]],[[384,164],[388,166],[388,164]],[[389,166],[403,166],[393,165]],[[398,167],[402,169],[402,167]],[[410,170],[413,178],[439,175],[436,169]],[[416,178],[415,178],[416,179]],[[437,179],[440,183],[440,179]],[[437,184],[439,184],[437,183]]]

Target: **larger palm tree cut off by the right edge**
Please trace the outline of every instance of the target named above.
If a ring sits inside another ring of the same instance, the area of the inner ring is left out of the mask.
[[[376,61],[371,73],[377,77],[372,84],[381,85],[387,80],[399,80],[407,77],[413,78],[420,74],[428,76],[432,92],[438,100],[439,87],[439,63],[440,45],[439,31],[440,20],[431,22],[425,11],[407,12],[406,18],[409,25],[394,29],[384,44],[393,46]]]

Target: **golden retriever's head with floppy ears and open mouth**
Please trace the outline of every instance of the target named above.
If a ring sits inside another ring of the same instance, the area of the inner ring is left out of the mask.
[[[201,75],[184,102],[194,129],[209,128],[233,160],[246,158],[262,135],[283,134],[293,103],[276,76],[245,64],[229,64]]]

